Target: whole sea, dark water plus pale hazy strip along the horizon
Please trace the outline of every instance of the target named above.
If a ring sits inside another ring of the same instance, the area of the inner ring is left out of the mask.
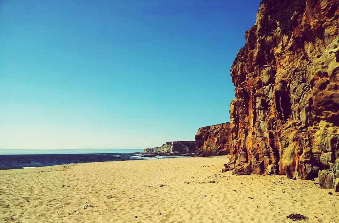
[[[0,170],[35,168],[71,163],[92,163],[125,160],[167,159],[173,156],[142,157],[142,149],[0,149]],[[21,153],[21,154],[20,154]],[[185,157],[185,156],[175,156]]]

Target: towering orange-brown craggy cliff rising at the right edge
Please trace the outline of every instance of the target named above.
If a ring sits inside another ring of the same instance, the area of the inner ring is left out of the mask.
[[[264,0],[231,68],[224,170],[339,190],[339,0]]]

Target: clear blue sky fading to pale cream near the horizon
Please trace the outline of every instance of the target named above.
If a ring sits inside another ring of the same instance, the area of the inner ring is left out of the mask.
[[[228,122],[260,0],[0,0],[0,148],[143,148]]]

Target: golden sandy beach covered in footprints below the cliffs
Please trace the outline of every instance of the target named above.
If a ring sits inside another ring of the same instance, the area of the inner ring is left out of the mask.
[[[0,171],[0,222],[339,222],[318,181],[221,173],[228,157]],[[84,207],[84,208],[83,208]]]

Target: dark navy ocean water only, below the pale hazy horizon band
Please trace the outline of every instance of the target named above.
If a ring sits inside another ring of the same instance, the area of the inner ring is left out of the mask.
[[[142,157],[135,153],[90,153],[90,154],[25,154],[0,155],[0,170],[35,168],[70,163],[91,163],[124,160],[166,159],[173,156]],[[183,157],[183,156],[175,156]]]

